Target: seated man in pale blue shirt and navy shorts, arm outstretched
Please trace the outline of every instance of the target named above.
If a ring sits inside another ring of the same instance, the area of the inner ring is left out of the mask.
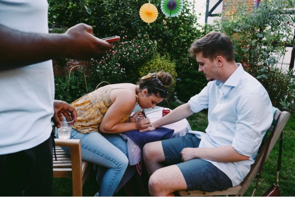
[[[208,33],[191,45],[189,53],[196,57],[199,72],[209,83],[188,103],[141,132],[208,108],[206,134],[190,131],[183,137],[144,146],[152,197],[173,197],[178,190],[222,191],[238,185],[254,163],[272,122],[266,89],[235,62],[228,36]]]

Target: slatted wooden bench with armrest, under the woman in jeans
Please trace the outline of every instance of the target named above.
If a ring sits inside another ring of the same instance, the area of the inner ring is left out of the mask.
[[[53,155],[53,177],[72,177],[73,197],[82,197],[82,188],[89,174],[89,163],[82,160],[81,141],[55,139],[56,155]],[[71,155],[60,146],[69,146]]]

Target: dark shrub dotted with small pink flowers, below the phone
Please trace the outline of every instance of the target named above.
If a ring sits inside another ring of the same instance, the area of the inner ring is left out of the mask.
[[[113,44],[113,49],[103,55],[101,60],[93,59],[93,74],[100,82],[110,84],[136,83],[138,67],[143,65],[156,51],[156,41],[148,35],[139,34],[137,39],[127,36]]]

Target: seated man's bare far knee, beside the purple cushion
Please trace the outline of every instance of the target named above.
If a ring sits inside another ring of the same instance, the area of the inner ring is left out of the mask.
[[[147,143],[143,148],[143,156],[149,176],[157,169],[165,167],[162,164],[165,156],[161,141]]]

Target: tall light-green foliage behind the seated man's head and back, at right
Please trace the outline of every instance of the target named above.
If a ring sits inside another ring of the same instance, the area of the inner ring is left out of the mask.
[[[292,32],[295,20],[284,13],[293,1],[261,1],[258,8],[252,6],[250,11],[246,1],[239,1],[240,4],[235,1],[238,8],[232,20],[221,22],[222,30],[233,41],[236,62],[242,63],[264,85],[273,106],[284,100],[287,86],[292,83],[282,69],[276,68],[276,63],[285,55],[285,45],[295,44]]]

